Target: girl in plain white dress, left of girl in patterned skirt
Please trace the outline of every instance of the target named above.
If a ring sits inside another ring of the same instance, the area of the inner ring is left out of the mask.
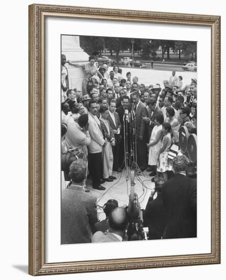
[[[161,149],[161,139],[162,139],[162,124],[164,122],[164,117],[162,114],[157,114],[154,119],[155,126],[153,127],[152,134],[147,144],[149,148],[148,164],[154,165],[155,172],[157,174],[157,163],[159,159],[159,151]]]

